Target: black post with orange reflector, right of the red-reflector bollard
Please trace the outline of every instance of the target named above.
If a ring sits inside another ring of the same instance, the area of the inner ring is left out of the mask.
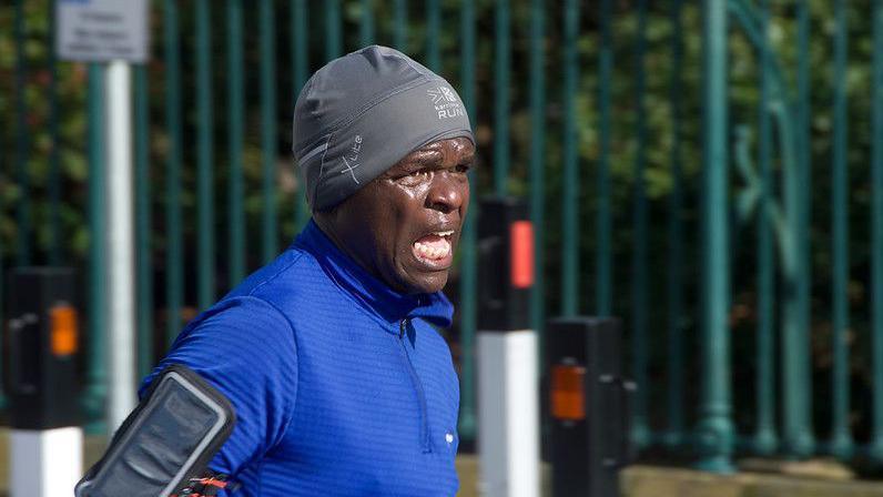
[[[554,497],[615,497],[631,458],[630,397],[615,318],[551,320],[546,328]]]

